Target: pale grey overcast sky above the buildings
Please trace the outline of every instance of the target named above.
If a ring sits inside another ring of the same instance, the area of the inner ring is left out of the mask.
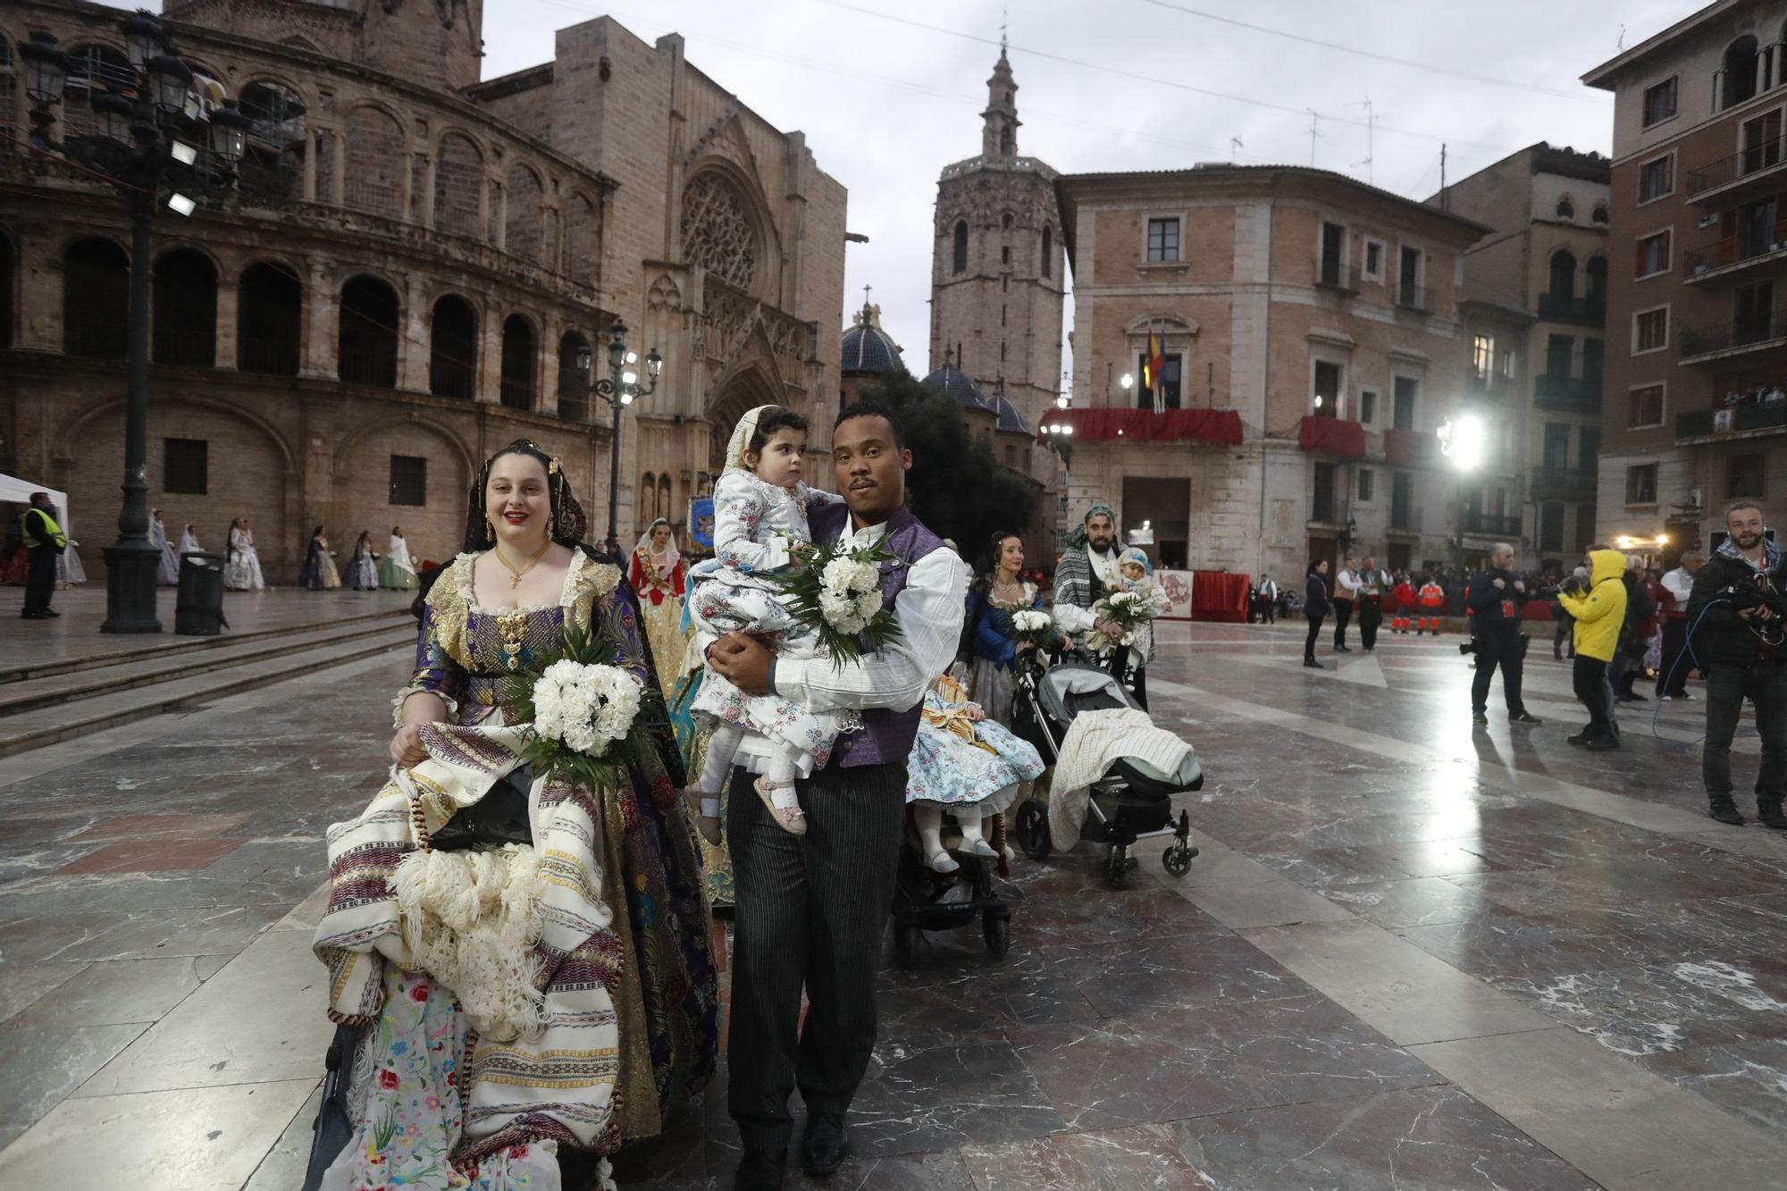
[[[132,5],[120,5],[132,7]],[[1008,23],[1019,150],[1063,173],[1197,161],[1338,170],[1410,198],[1533,141],[1608,152],[1612,97],[1578,77],[1694,0],[486,0],[484,77],[608,14],[688,57],[851,191],[845,317],[874,286],[927,368],[936,175],[979,152]],[[1365,98],[1374,132],[1367,136]],[[1313,114],[1312,114],[1313,113]],[[1231,138],[1240,148],[1231,150]],[[1369,157],[1369,163],[1367,163]],[[1065,361],[1063,361],[1065,365]]]

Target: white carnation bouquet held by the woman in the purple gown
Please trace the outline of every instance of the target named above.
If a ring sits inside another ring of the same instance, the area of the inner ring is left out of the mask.
[[[617,781],[634,753],[643,685],[631,671],[609,665],[599,640],[565,633],[565,651],[543,669],[515,674],[504,705],[529,726],[527,760],[536,774],[558,774],[579,785]]]

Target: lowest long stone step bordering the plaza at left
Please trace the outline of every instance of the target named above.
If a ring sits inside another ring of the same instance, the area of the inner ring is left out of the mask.
[[[415,649],[415,622],[406,617],[377,635],[357,635],[345,642],[327,642],[288,653],[273,665],[234,665],[222,672],[191,674],[154,687],[114,690],[73,705],[39,706],[5,719],[0,756],[118,728],[150,715],[198,706],[223,696],[266,687],[284,678],[315,674],[318,669],[359,658]]]

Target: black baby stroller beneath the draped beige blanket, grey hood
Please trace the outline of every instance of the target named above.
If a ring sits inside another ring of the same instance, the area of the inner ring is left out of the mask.
[[[1124,685],[1104,667],[1079,660],[1060,662],[1038,671],[1026,669],[1017,680],[1017,710],[1013,731],[1036,746],[1053,767],[1061,755],[1061,740],[1069,724],[1081,712],[1142,710]],[[1178,773],[1163,774],[1133,760],[1119,760],[1092,785],[1086,823],[1081,839],[1108,844],[1104,880],[1120,887],[1124,874],[1140,862],[1129,857],[1138,839],[1170,835],[1172,844],[1160,862],[1167,873],[1185,876],[1192,869],[1197,848],[1192,844],[1192,819],[1179,812],[1174,821],[1172,796],[1199,790],[1204,774],[1196,756],[1187,756]],[[1049,808],[1036,798],[1017,808],[1017,842],[1031,860],[1045,860],[1054,849],[1049,833]]]

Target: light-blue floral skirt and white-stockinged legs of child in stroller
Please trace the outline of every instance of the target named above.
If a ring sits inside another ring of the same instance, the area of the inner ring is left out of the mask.
[[[936,873],[961,867],[944,848],[944,812],[961,830],[961,851],[997,858],[985,823],[1040,774],[1042,755],[1035,746],[988,719],[952,678],[938,678],[924,696],[919,737],[906,760],[906,805],[924,844],[924,862]]]

